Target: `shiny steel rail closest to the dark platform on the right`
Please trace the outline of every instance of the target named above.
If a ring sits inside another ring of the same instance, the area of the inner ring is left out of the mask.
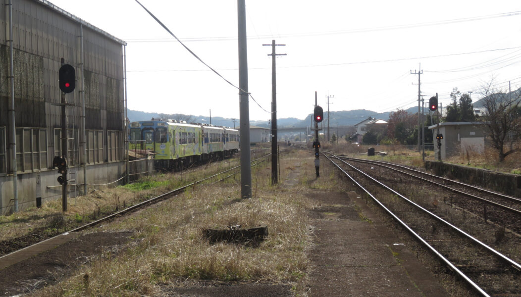
[[[449,266],[453,271],[455,271],[461,278],[463,278],[470,286],[472,286],[477,292],[479,292],[482,296],[490,297],[490,295],[485,292],[483,289],[481,289],[472,279],[470,279],[468,276],[466,276],[463,271],[458,269],[452,262],[449,261],[449,259],[445,258],[440,252],[438,252],[432,245],[430,245],[427,241],[425,241],[421,236],[419,236],[418,233],[416,233],[411,227],[409,227],[407,224],[405,224],[404,221],[402,221],[398,216],[396,216],[389,208],[387,208],[385,205],[383,205],[378,199],[376,199],[373,194],[369,193],[361,184],[359,184],[352,176],[348,174],[348,172],[345,172],[338,164],[334,163],[331,158],[329,158],[326,154],[322,153],[334,166],[337,166],[340,171],[342,171],[346,176],[348,176],[360,189],[362,189],[364,192],[367,193],[373,199],[380,207],[384,209],[389,215],[391,215],[396,221],[402,225],[407,231],[409,231],[418,241],[423,243],[432,253],[436,254],[438,258],[441,259],[447,266]],[[339,159],[340,160],[340,159]],[[342,160],[340,160],[342,161]]]

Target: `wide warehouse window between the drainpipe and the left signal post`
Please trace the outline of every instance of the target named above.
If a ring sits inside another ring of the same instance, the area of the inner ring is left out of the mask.
[[[46,143],[47,133],[45,128],[16,128],[17,171],[30,172],[47,169]],[[0,149],[0,155],[1,151],[2,149]],[[0,166],[1,163],[0,160]]]

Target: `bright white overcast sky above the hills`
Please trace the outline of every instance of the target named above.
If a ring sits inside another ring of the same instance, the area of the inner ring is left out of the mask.
[[[128,42],[129,109],[195,116],[208,116],[211,109],[213,117],[239,118],[238,90],[172,41],[134,0],[51,2]],[[239,85],[236,1],[140,2],[205,63]],[[507,13],[514,14],[499,16]],[[476,20],[483,16],[488,17]],[[443,23],[448,20],[458,21]],[[509,80],[513,90],[521,86],[519,0],[246,0],[246,24],[249,91],[268,111],[271,46],[262,44],[273,39],[286,44],[277,46],[277,53],[287,54],[277,57],[278,118],[313,113],[315,91],[324,110],[326,95],[334,95],[332,112],[417,106],[418,76],[411,70],[420,63],[424,100],[438,92],[443,106],[454,87],[473,91],[477,101],[480,85],[492,77],[499,89],[508,90]],[[379,29],[366,30],[374,28]],[[489,52],[462,54],[482,51]],[[446,70],[456,71],[439,72]],[[250,120],[270,118],[250,99]]]

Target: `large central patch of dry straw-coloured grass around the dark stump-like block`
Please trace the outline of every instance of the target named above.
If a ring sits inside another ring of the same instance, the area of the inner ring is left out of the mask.
[[[311,242],[306,197],[310,188],[336,187],[334,171],[324,168],[314,179],[313,155],[290,151],[281,156],[280,183],[270,185],[268,165],[252,170],[253,198],[240,200],[240,183],[230,180],[198,185],[170,199],[103,227],[135,230],[139,244],[117,256],[98,257],[54,286],[34,296],[156,295],[162,286],[194,281],[289,283],[302,292]],[[297,181],[285,187],[286,179]],[[310,187],[311,186],[311,187]],[[267,240],[249,244],[209,244],[203,228],[268,226]]]

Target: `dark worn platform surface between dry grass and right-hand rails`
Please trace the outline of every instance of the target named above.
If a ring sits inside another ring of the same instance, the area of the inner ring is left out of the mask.
[[[313,197],[311,296],[449,296],[356,194]]]

